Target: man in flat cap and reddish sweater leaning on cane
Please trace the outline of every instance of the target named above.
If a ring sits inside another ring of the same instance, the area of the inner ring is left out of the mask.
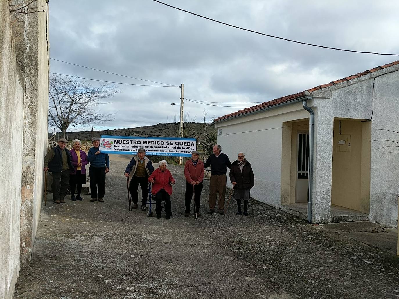
[[[190,216],[191,212],[191,199],[194,193],[194,209],[199,215],[199,204],[201,201],[202,181],[205,174],[203,162],[198,159],[198,151],[191,152],[191,159],[184,164],[184,177],[186,177],[186,212],[184,217]],[[195,211],[194,211],[195,212]]]

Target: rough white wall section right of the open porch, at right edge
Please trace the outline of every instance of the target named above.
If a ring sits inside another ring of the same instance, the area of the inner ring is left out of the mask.
[[[375,78],[373,102],[371,140],[385,139],[399,142],[398,134],[382,130],[399,131],[399,71]],[[369,218],[387,227],[397,227],[399,153],[395,151],[399,150],[397,147],[379,148],[397,145],[395,142],[387,141],[371,142]],[[389,151],[393,153],[387,153]]]

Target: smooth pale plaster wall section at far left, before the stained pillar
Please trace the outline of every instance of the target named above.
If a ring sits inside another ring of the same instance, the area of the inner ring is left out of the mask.
[[[0,136],[2,144],[22,144],[24,81],[15,56],[8,2],[0,1]],[[2,161],[13,171],[1,171],[0,297],[11,298],[20,269],[20,198],[22,147],[0,146]]]

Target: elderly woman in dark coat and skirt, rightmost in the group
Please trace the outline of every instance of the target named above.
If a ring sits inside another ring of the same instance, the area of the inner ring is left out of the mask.
[[[241,199],[244,200],[244,215],[248,216],[249,189],[255,185],[251,163],[245,159],[244,153],[238,153],[238,159],[231,163],[230,181],[233,184],[233,199],[237,200],[237,215],[241,215]]]

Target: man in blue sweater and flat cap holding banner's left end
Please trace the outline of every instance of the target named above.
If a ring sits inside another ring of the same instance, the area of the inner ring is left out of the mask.
[[[93,144],[93,148],[89,149],[89,153],[87,153],[87,161],[90,162],[90,201],[97,201],[98,198],[98,201],[103,203],[105,194],[105,174],[109,171],[109,156],[107,153],[101,153],[100,138],[93,138],[91,143]]]

